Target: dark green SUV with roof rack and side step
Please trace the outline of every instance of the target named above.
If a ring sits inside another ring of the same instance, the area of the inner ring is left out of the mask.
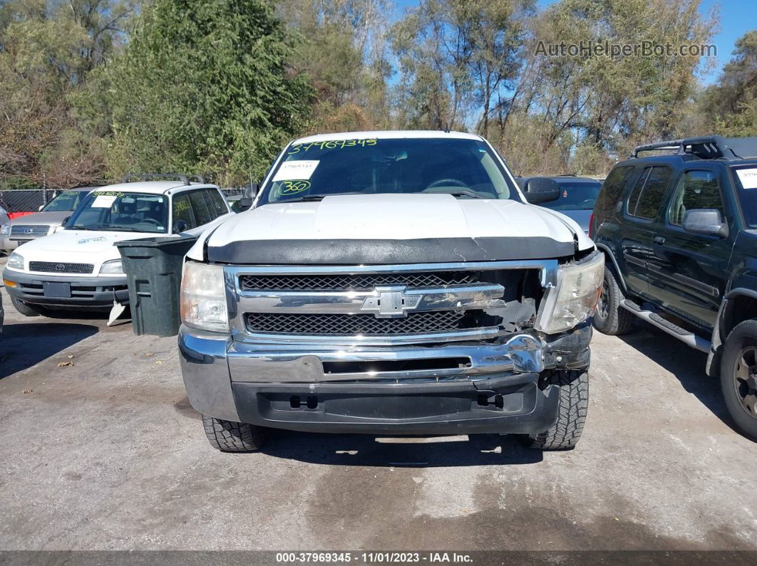
[[[608,175],[590,234],[607,258],[594,326],[624,334],[638,317],[707,352],[757,441],[757,138],[637,147]]]

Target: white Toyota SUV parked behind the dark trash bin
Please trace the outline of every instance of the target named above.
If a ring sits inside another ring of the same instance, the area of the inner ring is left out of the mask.
[[[126,275],[114,242],[197,236],[232,214],[218,187],[182,178],[98,187],[64,230],[16,249],[3,272],[16,310],[35,316],[48,308],[126,305]]]

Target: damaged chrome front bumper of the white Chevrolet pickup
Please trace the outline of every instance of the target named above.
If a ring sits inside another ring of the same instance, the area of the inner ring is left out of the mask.
[[[192,407],[235,422],[373,434],[534,433],[556,420],[548,370],[590,361],[590,322],[557,336],[414,346],[240,342],[182,326]]]

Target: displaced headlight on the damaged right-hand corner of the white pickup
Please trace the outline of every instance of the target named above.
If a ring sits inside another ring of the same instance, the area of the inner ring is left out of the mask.
[[[605,256],[594,252],[580,264],[562,265],[557,285],[544,299],[534,328],[547,334],[565,332],[590,317],[597,306],[605,274]]]

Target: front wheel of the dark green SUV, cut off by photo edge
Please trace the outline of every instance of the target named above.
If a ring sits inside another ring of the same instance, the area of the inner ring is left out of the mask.
[[[731,418],[747,438],[757,441],[757,320],[745,320],[728,335],[720,385]]]

